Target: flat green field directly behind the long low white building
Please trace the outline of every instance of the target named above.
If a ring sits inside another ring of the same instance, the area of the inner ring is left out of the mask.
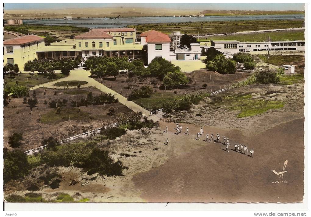
[[[281,28],[281,27],[279,27],[279,28]],[[269,36],[270,36],[270,41],[305,40],[304,30],[268,32],[268,33],[220,35],[220,36],[207,37],[206,40],[238,40],[240,42],[262,42],[262,41],[268,41]]]

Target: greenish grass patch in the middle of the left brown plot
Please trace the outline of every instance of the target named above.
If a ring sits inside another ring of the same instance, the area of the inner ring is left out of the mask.
[[[44,124],[59,123],[68,120],[85,120],[88,119],[89,114],[83,112],[82,109],[78,112],[79,108],[75,107],[64,107],[60,108],[60,113],[58,114],[56,109],[50,110],[44,113],[40,117],[40,122]]]

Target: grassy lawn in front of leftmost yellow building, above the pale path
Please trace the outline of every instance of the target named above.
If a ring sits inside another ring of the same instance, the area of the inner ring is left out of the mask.
[[[65,76],[62,73],[55,73],[56,78],[64,78]],[[10,74],[5,74],[4,76],[4,87],[7,89],[9,86],[15,86],[16,81],[18,82],[18,85],[26,85],[29,87],[33,87],[35,85],[43,84],[52,81],[52,79],[49,79],[46,75],[43,74],[35,74],[30,75],[26,73],[18,73],[13,75],[12,78],[10,78]]]

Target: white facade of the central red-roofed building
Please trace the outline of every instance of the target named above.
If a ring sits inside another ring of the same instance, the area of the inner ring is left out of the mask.
[[[165,60],[176,60],[176,54],[169,51],[169,43],[148,43],[147,45],[148,64],[154,58],[163,58]]]

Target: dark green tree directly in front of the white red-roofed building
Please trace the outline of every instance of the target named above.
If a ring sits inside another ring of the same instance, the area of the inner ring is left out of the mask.
[[[163,78],[168,72],[179,71],[179,67],[175,66],[168,60],[163,58],[154,58],[148,65],[150,70],[151,77],[158,77],[160,81],[163,81]]]

